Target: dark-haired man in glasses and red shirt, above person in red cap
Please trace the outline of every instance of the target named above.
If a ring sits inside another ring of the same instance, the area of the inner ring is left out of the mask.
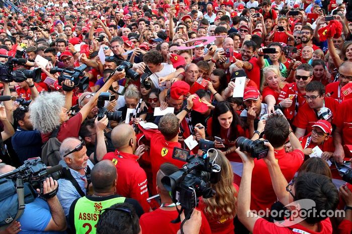
[[[312,131],[312,125],[318,121],[317,112],[322,107],[327,107],[332,114],[336,113],[338,102],[332,97],[325,96],[325,86],[320,81],[311,81],[306,86],[306,103],[298,109],[293,122],[296,126],[295,135],[300,138]]]

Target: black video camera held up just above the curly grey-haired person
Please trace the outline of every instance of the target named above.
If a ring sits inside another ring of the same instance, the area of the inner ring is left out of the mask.
[[[50,73],[55,74],[56,72],[60,72],[60,76],[58,77],[59,85],[62,85],[62,81],[64,80],[70,80],[73,82],[73,86],[77,86],[80,90],[85,90],[89,85],[89,78],[84,76],[85,69],[87,69],[87,65],[85,64],[75,67],[72,70],[53,67],[50,69]]]

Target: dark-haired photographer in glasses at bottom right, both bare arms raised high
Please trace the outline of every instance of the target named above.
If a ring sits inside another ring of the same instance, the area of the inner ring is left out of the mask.
[[[280,225],[271,223],[251,212],[251,197],[248,194],[251,193],[251,187],[253,187],[251,186],[251,180],[255,178],[255,175],[252,175],[252,171],[256,167],[255,159],[237,148],[236,152],[243,161],[243,172],[238,193],[238,219],[253,234],[332,233],[330,219],[326,216],[307,215],[302,217],[301,214],[303,213],[300,212],[300,210],[303,211],[303,209],[308,208],[307,204],[304,205],[303,202],[307,199],[311,199],[314,202],[313,208],[317,214],[320,214],[323,210],[327,212],[336,208],[338,191],[331,179],[324,175],[303,172],[292,183],[288,183],[275,157],[274,147],[268,142],[264,143],[264,145],[269,148],[269,151],[267,157],[262,161],[267,165],[275,191],[275,200],[278,199],[284,205],[291,204],[288,208],[296,215],[291,215],[290,219],[286,219]],[[261,192],[263,191],[261,190]],[[264,195],[261,195],[261,197],[264,197]],[[304,213],[307,214],[311,210],[305,211]]]

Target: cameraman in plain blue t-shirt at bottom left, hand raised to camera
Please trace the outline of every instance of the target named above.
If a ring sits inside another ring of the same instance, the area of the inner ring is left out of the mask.
[[[10,165],[0,164],[0,175],[15,169]],[[56,180],[51,177],[45,179],[42,194],[44,198],[36,197],[33,202],[27,203],[22,216],[18,219],[22,232],[62,233],[61,231],[66,229],[66,218],[56,195],[57,189]],[[37,189],[37,192],[39,194],[40,190]]]

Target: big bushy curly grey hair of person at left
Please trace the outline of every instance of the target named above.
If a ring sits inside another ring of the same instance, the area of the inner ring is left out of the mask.
[[[64,104],[65,96],[59,92],[39,94],[29,106],[33,127],[41,133],[51,133],[60,125],[60,113]]]

